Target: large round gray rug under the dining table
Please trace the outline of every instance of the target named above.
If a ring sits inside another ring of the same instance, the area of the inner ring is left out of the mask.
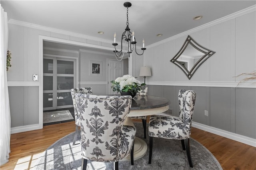
[[[190,150],[194,168],[190,168],[185,150],[181,142],[168,139],[153,139],[152,162],[148,164],[149,138],[144,139],[142,123],[134,123],[136,136],[148,144],[148,152],[138,160],[134,166],[130,162],[119,162],[120,170],[222,170],[219,162],[203,145],[190,138]],[[148,125],[147,125],[148,126]],[[34,169],[38,170],[80,170],[82,158],[80,154],[80,134],[76,145],[72,145],[74,133],[52,144],[42,156],[38,158]],[[88,160],[88,170],[111,170],[113,163],[91,162]]]

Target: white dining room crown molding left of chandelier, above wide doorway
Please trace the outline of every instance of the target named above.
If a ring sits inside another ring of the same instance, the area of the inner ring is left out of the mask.
[[[24,22],[24,21],[18,21],[18,20],[10,19],[8,21],[8,23],[15,24],[15,25],[21,25],[21,26],[24,26],[24,27],[30,27],[30,28],[34,28],[34,29],[40,29],[40,30],[44,30],[44,31],[50,31],[50,32],[54,32],[54,33],[71,35],[71,36],[74,36],[74,37],[80,37],[80,38],[84,38],[84,39],[91,39],[91,40],[95,40],[95,41],[101,41],[101,42],[104,42],[104,43],[112,43],[112,41],[107,40],[107,39],[92,37],[90,35],[74,33],[74,32],[71,32],[71,31],[65,31],[65,30],[62,30],[62,29],[46,27],[46,26],[43,26],[43,25],[37,25],[37,24],[34,24],[34,23],[28,23],[28,22]]]

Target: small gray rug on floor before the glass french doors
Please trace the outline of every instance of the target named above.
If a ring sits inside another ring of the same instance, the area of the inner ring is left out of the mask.
[[[69,110],[44,112],[44,123],[74,119]]]

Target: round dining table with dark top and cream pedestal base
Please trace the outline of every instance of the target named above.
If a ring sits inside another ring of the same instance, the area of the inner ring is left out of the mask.
[[[130,117],[148,116],[162,113],[169,109],[170,100],[158,96],[138,95],[132,98],[132,106],[124,125],[134,126]],[[134,160],[142,158],[148,150],[147,144],[139,137],[134,140]],[[130,161],[130,154],[120,161]]]

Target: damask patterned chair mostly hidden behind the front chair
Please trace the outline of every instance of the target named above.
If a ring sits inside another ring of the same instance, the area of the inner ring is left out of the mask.
[[[75,114],[75,124],[76,124],[76,132],[75,132],[75,137],[74,137],[74,141],[73,141],[73,145],[75,145],[77,134],[78,134],[78,127],[80,127],[80,117],[78,115],[77,108],[76,108],[75,94],[76,93],[92,94],[92,88],[91,87],[72,88],[70,91],[71,91],[71,96],[72,96],[72,100],[73,100],[74,114]]]

